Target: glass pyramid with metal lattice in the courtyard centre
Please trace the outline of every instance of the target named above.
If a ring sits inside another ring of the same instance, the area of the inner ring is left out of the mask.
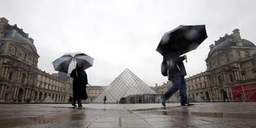
[[[106,103],[117,103],[122,97],[137,94],[156,94],[156,92],[129,69],[126,69],[95,98],[93,103],[103,103],[104,96],[107,98]]]

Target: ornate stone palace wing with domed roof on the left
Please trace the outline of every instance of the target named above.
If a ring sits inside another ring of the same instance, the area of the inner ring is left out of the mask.
[[[61,80],[37,67],[33,39],[17,25],[0,20],[0,101],[42,101],[50,96],[56,102],[72,95],[71,80]]]

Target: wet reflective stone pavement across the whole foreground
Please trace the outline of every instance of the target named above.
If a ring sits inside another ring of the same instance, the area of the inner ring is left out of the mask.
[[[0,127],[255,127],[256,103],[1,104]]]

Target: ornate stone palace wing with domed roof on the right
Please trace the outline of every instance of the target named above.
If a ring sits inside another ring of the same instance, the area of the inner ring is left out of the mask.
[[[221,101],[223,90],[232,100],[231,87],[256,83],[256,47],[242,39],[238,29],[210,45],[205,62],[205,72],[186,79],[190,101]],[[166,92],[164,85],[155,88],[158,93]]]

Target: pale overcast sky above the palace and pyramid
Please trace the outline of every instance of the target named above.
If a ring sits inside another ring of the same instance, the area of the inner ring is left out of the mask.
[[[160,72],[161,36],[179,25],[206,25],[208,38],[187,53],[187,77],[206,70],[209,45],[239,28],[255,44],[256,1],[10,1],[1,0],[0,17],[17,23],[35,41],[38,67],[54,73],[64,53],[81,51],[95,58],[87,69],[91,85],[109,85],[130,69],[155,86],[167,81]]]

